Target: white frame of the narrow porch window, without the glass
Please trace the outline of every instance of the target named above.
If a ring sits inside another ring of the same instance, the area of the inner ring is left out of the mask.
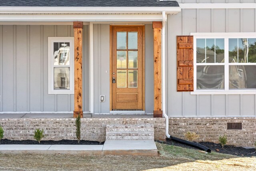
[[[70,43],[70,89],[54,89],[54,42]],[[74,94],[74,37],[48,37],[48,94]]]

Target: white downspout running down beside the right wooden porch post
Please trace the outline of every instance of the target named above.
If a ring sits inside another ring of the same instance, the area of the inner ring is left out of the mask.
[[[169,118],[165,113],[165,23],[166,23],[166,14],[163,11],[162,12],[162,110],[163,110],[163,115],[166,119],[166,137],[170,138],[169,135]]]

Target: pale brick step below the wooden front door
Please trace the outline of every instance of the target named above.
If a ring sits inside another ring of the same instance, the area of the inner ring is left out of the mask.
[[[106,125],[106,140],[154,140],[154,125]]]

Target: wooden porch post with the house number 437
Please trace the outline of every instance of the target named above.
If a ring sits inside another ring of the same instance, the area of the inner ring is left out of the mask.
[[[74,22],[74,118],[83,117],[82,97],[82,30],[83,22]]]

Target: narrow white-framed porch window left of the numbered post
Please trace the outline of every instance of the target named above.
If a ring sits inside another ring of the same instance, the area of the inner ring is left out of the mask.
[[[48,94],[74,93],[74,38],[48,37]]]

